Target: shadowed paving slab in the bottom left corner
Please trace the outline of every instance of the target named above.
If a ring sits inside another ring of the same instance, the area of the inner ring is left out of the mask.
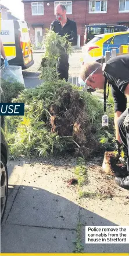
[[[76,231],[5,225],[1,252],[73,252]]]

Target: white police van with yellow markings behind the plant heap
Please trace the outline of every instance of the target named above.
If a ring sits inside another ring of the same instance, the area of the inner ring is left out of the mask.
[[[18,65],[24,70],[34,64],[26,21],[1,20],[0,34],[9,65]]]

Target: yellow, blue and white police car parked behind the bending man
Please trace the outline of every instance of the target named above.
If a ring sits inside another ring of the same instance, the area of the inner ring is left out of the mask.
[[[116,49],[118,54],[120,46],[123,46],[123,53],[128,53],[129,31],[96,35],[89,43],[83,46],[83,64],[91,61],[101,63],[102,56],[105,56],[105,51],[111,52],[112,49]]]

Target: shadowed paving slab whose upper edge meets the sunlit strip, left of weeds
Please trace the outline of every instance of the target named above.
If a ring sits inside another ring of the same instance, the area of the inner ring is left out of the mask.
[[[80,207],[37,187],[21,186],[7,223],[76,229]]]

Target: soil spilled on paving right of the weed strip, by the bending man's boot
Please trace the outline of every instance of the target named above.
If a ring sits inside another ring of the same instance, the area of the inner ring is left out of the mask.
[[[121,189],[114,182],[114,175],[107,175],[102,169],[103,158],[94,158],[93,163],[87,162],[87,180],[83,185],[83,191],[96,193],[96,203],[107,199],[122,197],[123,203],[127,203],[128,191]],[[90,199],[91,200],[91,199]],[[125,202],[124,202],[125,201]],[[120,199],[121,202],[121,199]],[[109,202],[108,202],[109,203]],[[128,202],[129,203],[129,202]]]

